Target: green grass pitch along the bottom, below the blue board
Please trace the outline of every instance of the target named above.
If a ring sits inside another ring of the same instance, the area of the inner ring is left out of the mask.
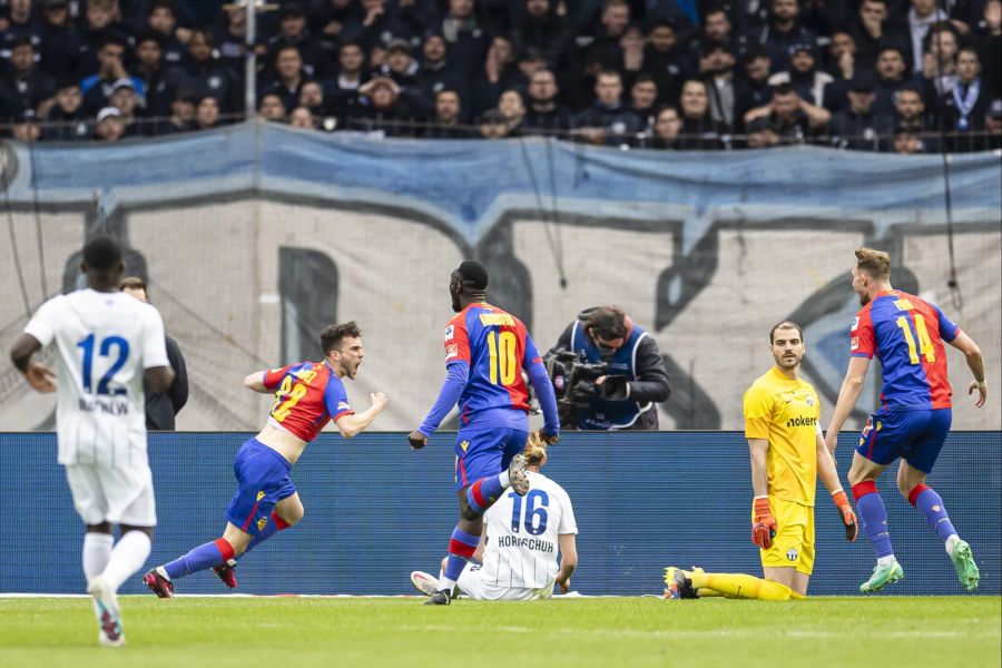
[[[796,602],[579,598],[121,599],[97,646],[84,598],[0,599],[0,667],[946,666],[1002,662],[999,597]]]

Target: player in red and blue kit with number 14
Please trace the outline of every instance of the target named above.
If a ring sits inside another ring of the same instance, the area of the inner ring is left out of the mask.
[[[980,574],[971,546],[957,537],[943,499],[925,484],[925,477],[950,433],[952,390],[943,342],[964,354],[974,374],[967,394],[978,391],[978,407],[988,397],[981,350],[939,307],[891,287],[891,256],[882,250],[856,249],[853,289],[863,308],[853,321],[852,357],[825,441],[834,453],[838,430],[856,404],[870,361],[876,355],[883,377],[881,407],[863,429],[848,473],[856,509],[877,554],[873,574],[859,591],[878,591],[904,577],[891,547],[887,511],[876,489],[877,478],[898,458],[897,489],[925,515],[945,543],[961,584],[973,591]]]

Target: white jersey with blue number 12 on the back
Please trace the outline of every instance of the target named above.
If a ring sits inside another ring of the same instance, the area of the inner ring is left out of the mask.
[[[59,463],[145,465],[143,373],[169,366],[157,310],[86,288],[42,304],[24,332],[42,346],[55,341],[59,352]]]

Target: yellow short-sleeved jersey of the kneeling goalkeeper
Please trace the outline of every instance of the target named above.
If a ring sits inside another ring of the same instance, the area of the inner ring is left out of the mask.
[[[814,505],[821,402],[811,383],[773,366],[745,392],[745,438],[769,442],[769,495]]]

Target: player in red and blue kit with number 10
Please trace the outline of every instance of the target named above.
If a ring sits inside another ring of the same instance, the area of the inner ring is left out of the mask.
[[[529,492],[521,454],[529,439],[523,369],[542,407],[542,438],[551,445],[560,440],[557,396],[539,352],[519,318],[487,303],[487,286],[488,272],[479,262],[463,262],[452,273],[449,292],[459,315],[445,327],[449,375],[424,422],[407,436],[411,448],[424,448],[459,402],[455,489],[460,519],[449,541],[442,579],[425,603],[430,606],[448,606],[452,600],[455,581],[483,533],[483,513],[508,488],[522,497]]]

